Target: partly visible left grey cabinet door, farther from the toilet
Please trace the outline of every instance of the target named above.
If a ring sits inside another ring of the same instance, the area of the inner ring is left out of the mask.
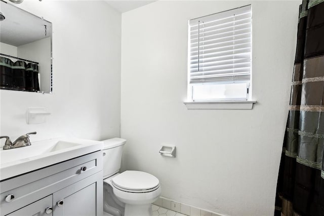
[[[52,195],[33,202],[23,208],[18,209],[7,216],[46,216],[53,215],[52,212]]]

